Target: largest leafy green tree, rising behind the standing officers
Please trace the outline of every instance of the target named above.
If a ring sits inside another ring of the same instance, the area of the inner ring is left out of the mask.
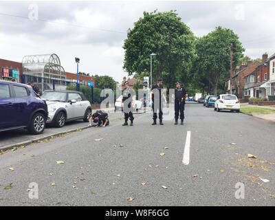
[[[124,66],[131,76],[150,73],[153,56],[153,82],[164,78],[175,87],[175,80],[184,80],[192,67],[195,36],[175,11],[143,13],[144,17],[128,30],[124,41]],[[150,76],[150,75],[149,75]]]

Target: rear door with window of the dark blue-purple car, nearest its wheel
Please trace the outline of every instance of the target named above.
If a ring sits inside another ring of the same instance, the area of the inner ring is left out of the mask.
[[[13,109],[15,111],[15,124],[17,124],[17,126],[28,125],[30,115],[32,114],[32,107],[28,104],[30,91],[20,85],[11,85],[11,87],[14,96]]]

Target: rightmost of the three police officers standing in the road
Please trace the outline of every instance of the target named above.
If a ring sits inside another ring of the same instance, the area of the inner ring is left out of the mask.
[[[175,124],[177,124],[177,120],[179,119],[179,112],[181,124],[184,124],[184,104],[186,96],[186,90],[182,87],[181,82],[177,81],[175,88]]]

